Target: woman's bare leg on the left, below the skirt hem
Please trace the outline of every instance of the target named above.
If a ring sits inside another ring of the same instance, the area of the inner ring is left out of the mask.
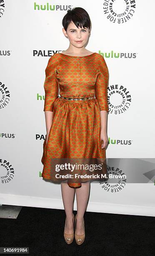
[[[73,230],[73,203],[75,188],[69,187],[67,183],[61,183],[62,201],[66,213],[66,226],[65,233],[68,235],[72,234]]]

